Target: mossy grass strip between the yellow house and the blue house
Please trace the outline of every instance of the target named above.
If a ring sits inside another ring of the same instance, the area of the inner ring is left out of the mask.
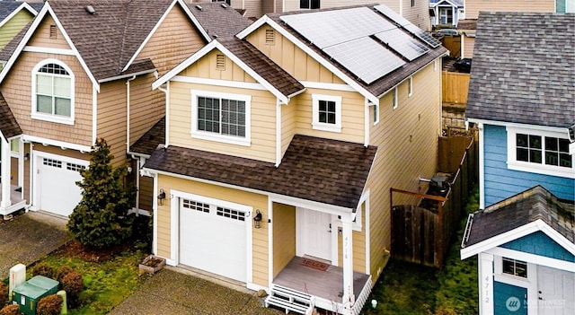
[[[478,191],[471,195],[466,213],[479,208]],[[449,250],[446,267],[407,263],[391,258],[372,290],[364,315],[476,315],[478,311],[477,259],[459,258],[467,217],[461,222]],[[371,300],[376,299],[376,309]]]

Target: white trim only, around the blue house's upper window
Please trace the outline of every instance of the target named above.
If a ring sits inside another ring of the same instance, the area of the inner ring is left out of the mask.
[[[566,168],[560,166],[546,165],[543,163],[537,164],[532,162],[517,161],[517,134],[527,134],[534,136],[550,136],[555,138],[566,139],[564,133],[553,132],[553,131],[543,131],[535,129],[517,128],[517,127],[507,127],[507,165],[509,170],[514,171],[528,171],[532,173],[559,176],[568,179],[575,179],[575,170],[573,168]],[[544,142],[543,142],[544,143]],[[544,145],[544,144],[543,144]],[[575,165],[573,158],[575,153],[571,153],[571,163]],[[543,157],[544,159],[544,157]]]

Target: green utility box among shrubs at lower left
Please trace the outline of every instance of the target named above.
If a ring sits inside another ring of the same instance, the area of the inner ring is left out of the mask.
[[[34,276],[13,289],[12,302],[20,305],[22,314],[34,315],[36,304],[44,296],[56,294],[58,285],[56,280],[46,276]]]

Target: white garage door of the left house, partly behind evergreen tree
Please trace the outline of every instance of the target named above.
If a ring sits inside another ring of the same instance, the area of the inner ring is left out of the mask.
[[[75,184],[82,180],[79,170],[89,162],[70,162],[57,157],[38,157],[38,191],[40,210],[68,216],[82,200],[81,189]]]

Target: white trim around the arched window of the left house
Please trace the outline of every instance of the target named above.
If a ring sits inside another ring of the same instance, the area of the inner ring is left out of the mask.
[[[58,66],[62,66],[64,69],[66,69],[67,73],[70,74],[70,83],[72,86],[70,86],[70,117],[64,117],[64,116],[56,116],[56,115],[51,115],[51,114],[46,114],[46,113],[39,113],[36,111],[36,103],[37,103],[37,98],[36,98],[36,74],[38,74],[38,70],[40,70],[40,68],[42,66],[48,65],[48,64],[56,64]],[[34,66],[34,68],[32,69],[31,72],[32,75],[32,80],[31,80],[31,118],[32,119],[37,119],[37,120],[45,120],[45,121],[50,121],[50,122],[55,122],[58,124],[66,124],[66,125],[74,125],[74,118],[75,118],[75,75],[74,72],[72,72],[72,69],[67,66],[65,63],[63,63],[60,60],[54,59],[54,58],[49,58],[49,59],[44,59],[42,61],[40,61],[38,64],[36,64],[36,66]]]

